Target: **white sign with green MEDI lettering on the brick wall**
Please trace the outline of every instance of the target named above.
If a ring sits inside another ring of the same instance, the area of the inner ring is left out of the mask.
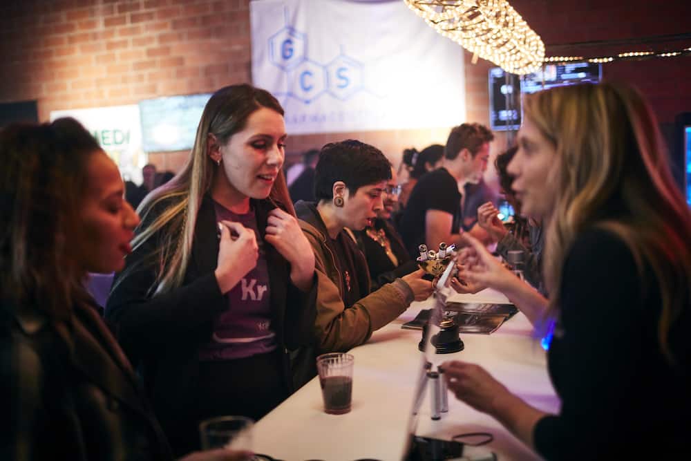
[[[84,125],[115,161],[125,180],[137,184],[142,182],[142,167],[148,157],[142,150],[142,126],[137,104],[50,112],[51,122],[60,117],[73,117]]]

